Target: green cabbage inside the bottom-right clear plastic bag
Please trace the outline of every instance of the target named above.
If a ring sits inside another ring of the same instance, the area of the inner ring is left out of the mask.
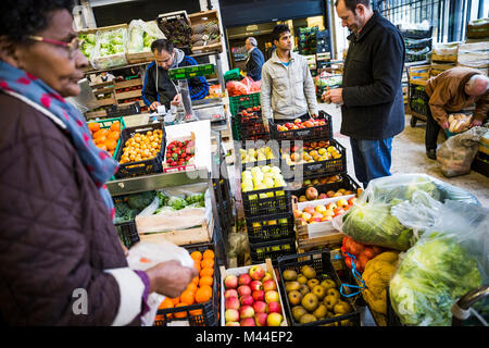
[[[481,286],[476,259],[453,238],[430,234],[408,250],[389,295],[406,325],[450,325],[455,300]]]

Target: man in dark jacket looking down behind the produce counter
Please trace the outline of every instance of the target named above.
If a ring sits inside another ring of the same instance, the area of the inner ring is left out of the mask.
[[[148,65],[142,86],[142,100],[151,111],[155,111],[159,105],[170,109],[171,104],[178,105],[181,95],[177,92],[177,82],[172,82],[168,70],[198,65],[191,57],[173,47],[166,39],[154,40],[151,44],[151,51],[154,54],[154,62]],[[192,77],[188,79],[191,100],[205,98],[209,94],[209,84],[204,77]]]

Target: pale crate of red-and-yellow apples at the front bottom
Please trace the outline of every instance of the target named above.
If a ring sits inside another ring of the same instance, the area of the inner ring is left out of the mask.
[[[222,326],[287,326],[272,261],[221,270]]]

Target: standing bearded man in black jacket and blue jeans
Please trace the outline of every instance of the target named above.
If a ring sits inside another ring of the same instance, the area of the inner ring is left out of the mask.
[[[352,32],[351,42],[342,88],[326,91],[323,100],[341,104],[341,134],[350,137],[355,175],[366,187],[390,175],[392,138],[404,129],[404,41],[368,0],[337,0],[335,5],[342,26]]]

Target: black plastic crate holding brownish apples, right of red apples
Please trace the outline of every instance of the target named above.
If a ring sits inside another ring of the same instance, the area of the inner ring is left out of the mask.
[[[286,286],[285,281],[283,277],[283,273],[285,270],[294,270],[296,272],[300,272],[300,269],[303,265],[310,265],[316,271],[316,278],[322,282],[326,278],[331,278],[335,281],[337,285],[337,289],[339,291],[340,286],[342,284],[338,273],[336,272],[335,268],[331,264],[330,259],[330,252],[328,249],[322,249],[322,250],[314,250],[309,251],[304,253],[299,254],[292,254],[287,257],[281,257],[278,259],[278,273],[279,273],[279,290],[281,293],[281,298],[285,300],[285,310],[286,314],[289,316],[289,322],[292,326],[319,326],[319,325],[331,325],[331,326],[341,326],[342,322],[348,320],[353,326],[360,326],[361,325],[361,313],[356,306],[356,301],[350,300],[347,297],[342,297],[343,300],[348,301],[350,306],[352,307],[352,311],[350,313],[347,313],[344,315],[339,316],[333,316],[327,318],[323,320],[318,320],[315,322],[306,323],[306,324],[300,324],[293,320],[292,312],[291,312],[291,306],[289,302],[289,298],[286,294]],[[351,274],[351,273],[348,273]],[[350,284],[354,284],[354,279],[348,279]],[[351,281],[351,282],[350,282]],[[344,293],[349,294],[349,288],[346,287]],[[358,297],[361,298],[361,297]],[[356,298],[355,298],[356,299]]]

